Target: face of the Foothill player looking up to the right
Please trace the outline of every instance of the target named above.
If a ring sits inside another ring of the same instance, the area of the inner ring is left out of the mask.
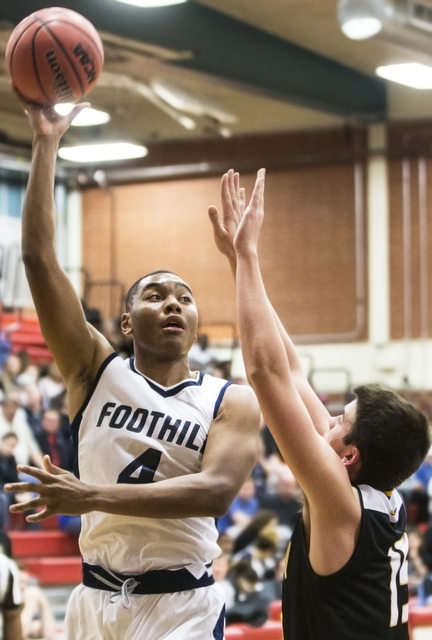
[[[130,319],[134,340],[160,357],[186,356],[196,339],[198,311],[192,292],[172,273],[143,278]]]

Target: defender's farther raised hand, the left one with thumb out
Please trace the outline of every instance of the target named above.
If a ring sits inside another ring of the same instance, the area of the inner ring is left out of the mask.
[[[215,206],[208,209],[217,248],[235,264],[234,236],[245,210],[245,190],[240,188],[240,175],[230,169],[222,176],[222,212]]]

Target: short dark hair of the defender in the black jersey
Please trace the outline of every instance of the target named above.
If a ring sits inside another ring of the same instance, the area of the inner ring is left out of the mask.
[[[356,484],[390,491],[409,478],[430,448],[427,416],[394,391],[377,384],[354,389],[357,410],[345,444],[361,455]]]

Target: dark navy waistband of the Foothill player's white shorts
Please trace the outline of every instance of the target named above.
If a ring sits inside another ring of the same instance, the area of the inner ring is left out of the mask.
[[[206,567],[210,568],[211,564],[206,565]],[[118,583],[115,584],[114,580],[117,580]],[[146,571],[141,575],[128,576],[115,571],[107,571],[99,565],[83,562],[83,584],[86,587],[119,592],[122,585],[128,580],[133,580],[136,583],[133,587],[133,593],[138,595],[191,591],[192,589],[209,587],[214,584],[213,576],[208,575],[207,571],[199,579],[195,578],[185,568],[177,569],[176,571],[168,571],[166,569]]]

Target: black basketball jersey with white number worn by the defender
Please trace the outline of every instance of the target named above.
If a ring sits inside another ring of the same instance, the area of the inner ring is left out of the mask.
[[[311,568],[303,519],[291,539],[283,586],[285,640],[408,640],[408,537],[397,491],[358,488],[356,548],[329,576]]]

